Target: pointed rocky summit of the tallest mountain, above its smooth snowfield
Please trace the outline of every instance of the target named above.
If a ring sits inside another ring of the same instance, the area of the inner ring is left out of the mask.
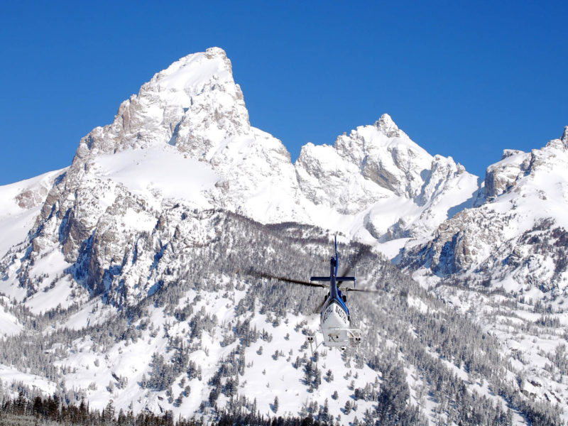
[[[75,160],[156,143],[209,160],[226,138],[251,132],[231,61],[221,48],[193,53],[155,74],[124,101],[112,124],[82,138]]]

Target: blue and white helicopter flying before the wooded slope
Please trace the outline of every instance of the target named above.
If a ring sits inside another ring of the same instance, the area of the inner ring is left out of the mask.
[[[363,291],[376,293],[376,290],[363,290],[355,288],[355,277],[337,276],[339,268],[339,253],[337,253],[337,236],[335,237],[335,256],[329,258],[329,277],[312,276],[310,282],[302,280],[294,280],[290,278],[277,277],[266,273],[258,273],[263,278],[273,278],[288,283],[307,285],[310,287],[329,288],[329,293],[324,297],[324,302],[320,305],[320,330],[323,335],[324,346],[330,348],[339,348],[344,351],[348,346],[355,347],[361,344],[361,330],[351,328],[351,314],[346,305],[347,297],[344,292],[347,291]],[[314,283],[317,281],[319,283]],[[320,284],[321,282],[326,284]],[[352,282],[353,288],[340,288],[342,283]],[[312,344],[314,337],[307,338]],[[317,344],[316,347],[320,346]]]

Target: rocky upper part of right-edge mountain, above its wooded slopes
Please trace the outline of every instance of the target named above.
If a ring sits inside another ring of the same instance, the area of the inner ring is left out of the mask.
[[[567,132],[530,153],[506,150],[487,168],[476,206],[439,225],[403,265],[518,291],[567,290]]]

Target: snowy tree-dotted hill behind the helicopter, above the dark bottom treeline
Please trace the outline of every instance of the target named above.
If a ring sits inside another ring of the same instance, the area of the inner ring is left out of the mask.
[[[323,273],[320,259],[329,252],[329,235],[311,226],[277,229],[224,212],[186,214],[186,220],[200,218],[200,225],[192,230],[195,244],[181,258],[165,259],[175,275],[172,283],[126,311],[94,299],[49,319],[36,317],[40,327],[27,339],[42,342],[34,356],[57,371],[46,391],[55,382],[65,398],[86,398],[99,409],[113,400],[117,410],[171,410],[175,417],[209,419],[217,407],[236,403],[265,416],[311,413],[323,421],[331,415],[340,424],[376,419],[379,408],[388,406],[431,424],[471,412],[496,415],[498,405],[506,404],[496,391],[506,386],[518,392],[514,383],[499,383],[491,373],[490,366],[501,364],[490,336],[427,297],[388,261],[371,253],[361,258],[346,246],[339,246],[344,261],[359,258],[367,285],[381,292],[349,295],[354,325],[364,334],[358,350],[342,354],[320,346],[317,358],[312,356],[306,335],[321,338],[312,312],[324,290],[290,288],[234,268],[246,271],[253,263],[286,275]],[[209,234],[212,223],[228,230],[224,239]],[[259,247],[273,256],[259,253]],[[274,258],[281,263],[275,265]],[[192,263],[184,266],[182,259]],[[388,289],[387,277],[393,280]],[[445,333],[432,334],[440,327]],[[16,339],[7,341],[6,351],[15,344]],[[41,365],[33,364],[30,373]],[[476,381],[481,374],[486,382]],[[444,408],[453,394],[442,397],[436,386],[448,392],[461,386],[454,408]],[[399,396],[378,404],[388,392]],[[523,421],[522,415],[515,419]]]

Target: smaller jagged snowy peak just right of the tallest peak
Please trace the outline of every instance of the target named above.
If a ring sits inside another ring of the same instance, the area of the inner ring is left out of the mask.
[[[432,157],[388,114],[334,146],[308,143],[296,170],[310,200],[340,214],[365,212],[366,229],[382,241],[430,234],[478,188],[475,176],[452,158]]]

